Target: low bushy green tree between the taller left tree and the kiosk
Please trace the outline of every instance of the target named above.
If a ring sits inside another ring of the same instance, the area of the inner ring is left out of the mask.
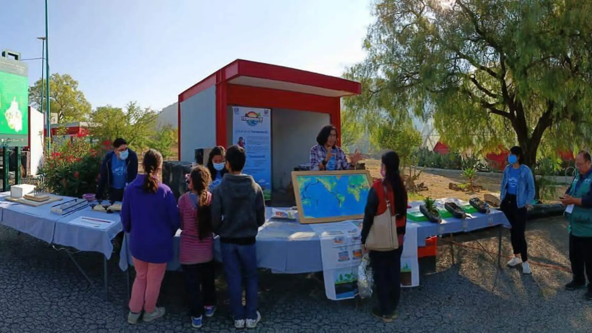
[[[114,106],[99,106],[91,114],[92,137],[113,141],[124,138],[134,150],[149,146],[156,128],[158,115],[152,109],[142,109],[137,102],[130,102],[124,111]]]

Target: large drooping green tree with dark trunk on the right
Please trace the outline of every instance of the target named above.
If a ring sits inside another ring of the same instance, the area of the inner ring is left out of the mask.
[[[346,77],[374,117],[434,119],[452,148],[574,148],[592,135],[592,2],[379,0]],[[372,106],[372,107],[369,107]]]

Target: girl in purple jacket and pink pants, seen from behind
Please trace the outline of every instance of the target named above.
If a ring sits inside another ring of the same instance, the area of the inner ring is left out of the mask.
[[[144,154],[144,174],[126,187],[121,208],[121,223],[129,234],[136,279],[131,288],[127,322],[136,324],[142,310],[143,320],[153,321],[165,315],[157,308],[160,283],[166,263],[173,258],[173,237],[179,228],[179,211],[170,188],[159,182],[162,155],[154,149]]]

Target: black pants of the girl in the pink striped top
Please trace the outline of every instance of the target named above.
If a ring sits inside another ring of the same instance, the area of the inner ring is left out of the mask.
[[[214,261],[183,265],[183,274],[189,296],[189,314],[197,318],[204,313],[204,306],[217,303]]]

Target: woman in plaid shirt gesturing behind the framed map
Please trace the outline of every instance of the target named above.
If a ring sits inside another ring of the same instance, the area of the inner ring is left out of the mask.
[[[310,149],[311,170],[349,170],[355,167],[362,158],[356,149],[348,163],[342,148],[337,147],[337,129],[333,125],[325,125],[317,135],[317,144]]]

